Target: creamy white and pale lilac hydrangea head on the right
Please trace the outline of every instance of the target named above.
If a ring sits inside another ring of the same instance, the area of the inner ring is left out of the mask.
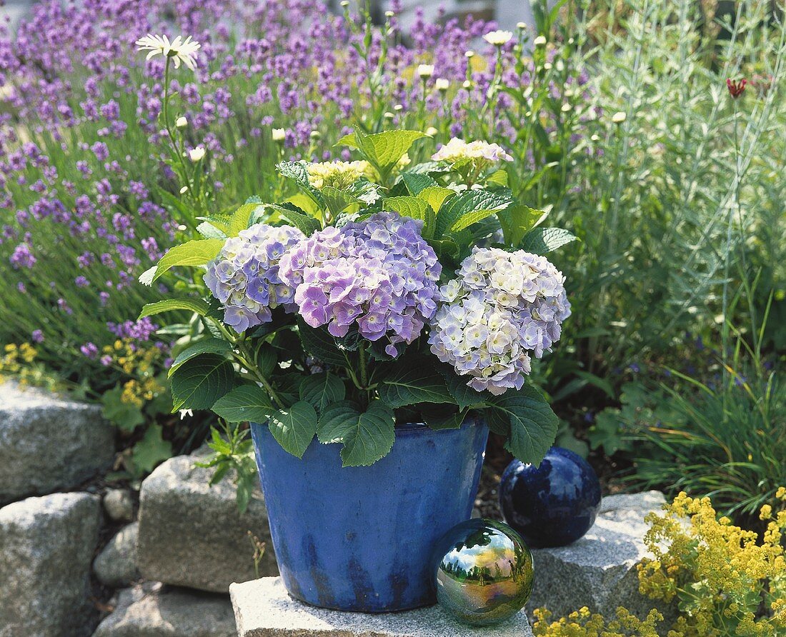
[[[545,257],[476,247],[457,278],[439,288],[432,353],[470,376],[477,391],[520,389],[531,353],[549,351],[571,314],[564,281]]]

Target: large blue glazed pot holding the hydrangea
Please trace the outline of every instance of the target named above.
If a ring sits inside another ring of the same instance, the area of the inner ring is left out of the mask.
[[[291,456],[252,423],[278,569],[292,597],[364,613],[435,603],[430,557],[472,514],[488,428],[396,429],[370,467],[341,467],[340,445],[312,441]]]

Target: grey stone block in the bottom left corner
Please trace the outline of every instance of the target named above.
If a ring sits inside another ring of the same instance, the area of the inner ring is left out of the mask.
[[[101,502],[54,493],[0,509],[0,637],[82,637],[97,613],[88,601]]]

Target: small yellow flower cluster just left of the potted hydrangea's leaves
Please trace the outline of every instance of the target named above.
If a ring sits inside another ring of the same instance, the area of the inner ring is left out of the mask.
[[[141,407],[152,401],[165,387],[156,379],[163,353],[157,347],[140,347],[132,339],[118,339],[101,350],[102,360],[115,364],[123,373],[134,378],[123,384],[120,400],[127,405]]]

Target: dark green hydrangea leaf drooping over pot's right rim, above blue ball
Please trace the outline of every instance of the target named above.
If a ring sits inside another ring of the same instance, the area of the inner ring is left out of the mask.
[[[523,463],[540,464],[554,444],[559,418],[540,390],[524,385],[487,400],[489,424],[509,424],[505,448]]]

